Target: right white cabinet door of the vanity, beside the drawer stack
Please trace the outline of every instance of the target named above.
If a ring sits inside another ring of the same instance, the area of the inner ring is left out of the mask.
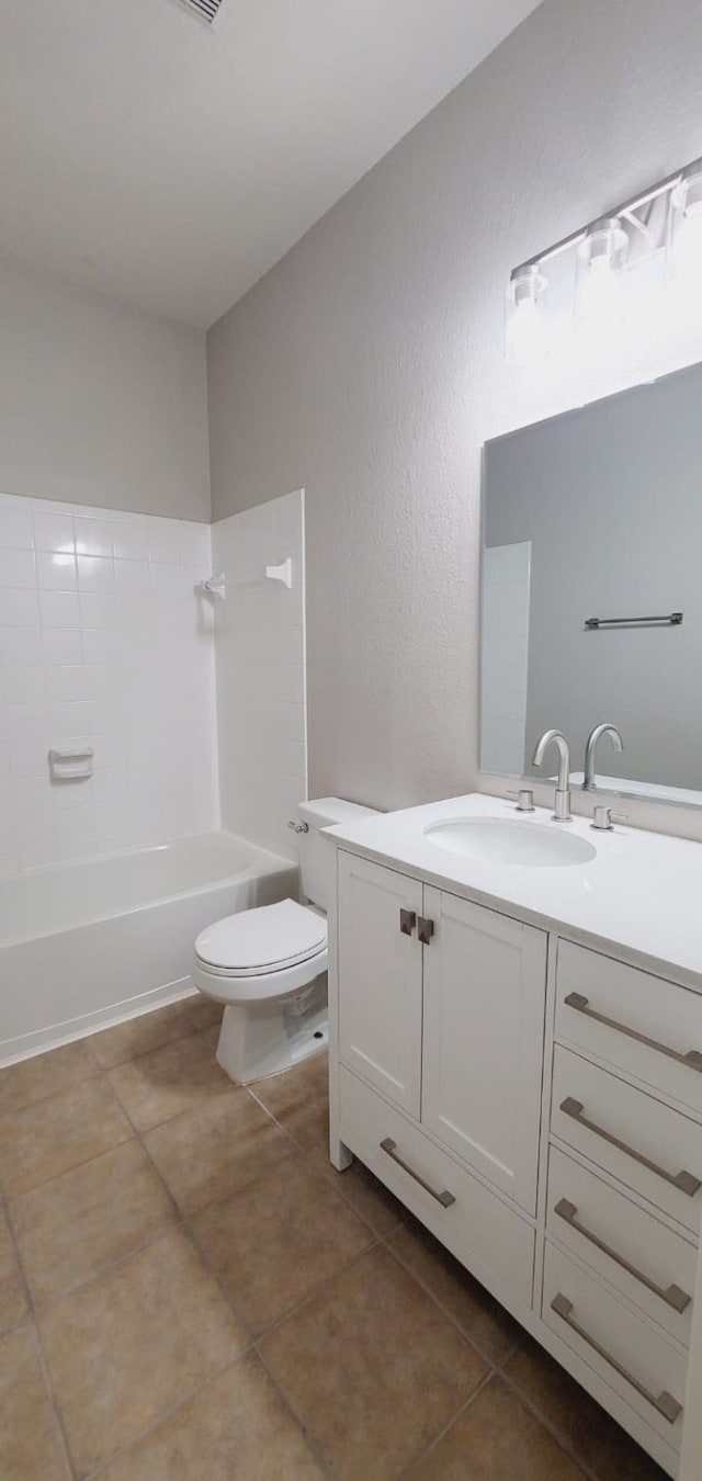
[[[536,1211],[546,935],[427,889],[422,1121]]]

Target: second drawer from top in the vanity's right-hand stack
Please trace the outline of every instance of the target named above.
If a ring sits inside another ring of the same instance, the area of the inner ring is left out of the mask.
[[[551,1130],[695,1235],[702,1210],[702,1127],[557,1046]]]

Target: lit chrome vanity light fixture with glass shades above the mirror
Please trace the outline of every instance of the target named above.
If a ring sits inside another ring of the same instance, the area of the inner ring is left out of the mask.
[[[626,280],[653,259],[661,259],[665,275],[702,304],[702,158],[512,270],[505,318],[511,364],[536,364],[548,352],[548,264],[569,252],[575,255],[573,317],[579,326],[612,326],[622,311]]]

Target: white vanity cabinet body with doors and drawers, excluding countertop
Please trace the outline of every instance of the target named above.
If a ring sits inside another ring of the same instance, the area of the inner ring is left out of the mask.
[[[332,1160],[370,1167],[677,1477],[702,992],[344,840],[336,884]]]

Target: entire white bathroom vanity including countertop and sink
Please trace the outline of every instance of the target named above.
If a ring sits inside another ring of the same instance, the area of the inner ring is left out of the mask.
[[[702,847],[478,794],[327,837],[332,1161],[699,1475]]]

